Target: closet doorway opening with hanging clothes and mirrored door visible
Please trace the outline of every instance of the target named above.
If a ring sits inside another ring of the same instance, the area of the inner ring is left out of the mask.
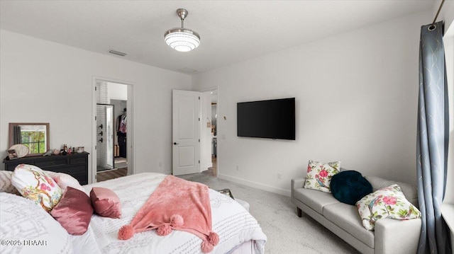
[[[133,174],[132,86],[95,79],[93,182]],[[96,167],[95,167],[96,166]]]

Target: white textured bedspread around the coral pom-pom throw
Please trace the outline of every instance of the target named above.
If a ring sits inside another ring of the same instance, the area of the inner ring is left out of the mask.
[[[118,229],[129,224],[166,175],[141,173],[105,182],[84,185],[89,195],[92,187],[107,187],[121,201],[121,219],[99,217],[94,214],[87,233],[70,236],[74,253],[201,253],[201,239],[192,233],[174,230],[168,236],[156,232],[135,233],[129,240],[118,240]],[[255,253],[265,253],[267,237],[258,221],[238,202],[215,190],[209,190],[212,229],[219,235],[219,243],[211,253],[228,253],[236,246],[253,240]]]

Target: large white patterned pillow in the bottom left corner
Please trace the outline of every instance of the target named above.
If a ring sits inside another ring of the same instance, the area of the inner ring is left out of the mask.
[[[33,201],[0,192],[1,253],[73,253],[70,235]]]

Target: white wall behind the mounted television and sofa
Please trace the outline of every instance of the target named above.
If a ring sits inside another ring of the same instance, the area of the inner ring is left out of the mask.
[[[289,195],[309,159],[341,160],[416,184],[419,33],[429,20],[416,13],[194,75],[194,88],[219,86],[218,176]],[[236,136],[236,103],[285,97],[296,97],[296,141]]]

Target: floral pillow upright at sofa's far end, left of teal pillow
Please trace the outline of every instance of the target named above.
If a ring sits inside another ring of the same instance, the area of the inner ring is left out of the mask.
[[[309,160],[304,187],[331,193],[331,178],[341,171],[341,161],[319,163]]]

